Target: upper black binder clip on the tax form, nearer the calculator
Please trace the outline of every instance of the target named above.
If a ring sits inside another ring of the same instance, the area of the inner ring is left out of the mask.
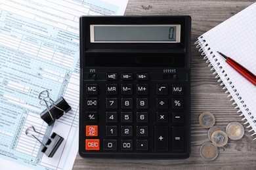
[[[43,93],[46,93],[46,97],[42,97]],[[51,126],[51,124],[53,124],[54,121],[60,118],[64,113],[71,110],[70,105],[68,105],[63,97],[60,97],[60,99],[54,102],[49,97],[49,92],[47,90],[40,92],[38,98],[41,99],[40,105],[47,108],[41,112],[40,116],[49,126]]]

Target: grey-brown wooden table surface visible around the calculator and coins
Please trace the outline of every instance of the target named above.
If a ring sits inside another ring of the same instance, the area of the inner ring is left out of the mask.
[[[190,15],[192,17],[191,61],[191,155],[186,160],[103,160],[83,159],[77,154],[73,169],[256,169],[256,141],[249,129],[239,141],[228,141],[214,161],[200,157],[200,146],[208,142],[207,129],[198,122],[204,111],[215,114],[217,125],[244,123],[232,101],[217,82],[213,71],[194,42],[209,29],[245,9],[255,1],[171,1],[129,0],[125,15]],[[255,30],[256,31],[256,30]],[[256,56],[255,56],[256,57]],[[245,126],[244,126],[245,127]]]

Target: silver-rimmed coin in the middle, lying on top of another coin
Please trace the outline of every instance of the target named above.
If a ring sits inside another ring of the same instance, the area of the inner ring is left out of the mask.
[[[228,143],[228,136],[225,131],[217,130],[211,135],[211,142],[217,147],[222,147]]]

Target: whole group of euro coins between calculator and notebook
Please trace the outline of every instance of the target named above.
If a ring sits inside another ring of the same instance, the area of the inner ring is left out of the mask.
[[[226,130],[222,126],[214,126],[215,116],[211,112],[202,112],[199,116],[199,124],[203,128],[209,128],[208,138],[211,141],[200,147],[200,156],[203,160],[215,160],[219,154],[217,147],[223,147],[228,143],[228,138],[238,140],[244,136],[244,127],[238,122],[231,122],[226,126]]]

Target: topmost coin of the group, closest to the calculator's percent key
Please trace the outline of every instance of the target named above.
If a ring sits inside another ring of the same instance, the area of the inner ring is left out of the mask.
[[[210,128],[215,124],[215,116],[211,112],[202,112],[199,116],[199,124],[203,128]]]

